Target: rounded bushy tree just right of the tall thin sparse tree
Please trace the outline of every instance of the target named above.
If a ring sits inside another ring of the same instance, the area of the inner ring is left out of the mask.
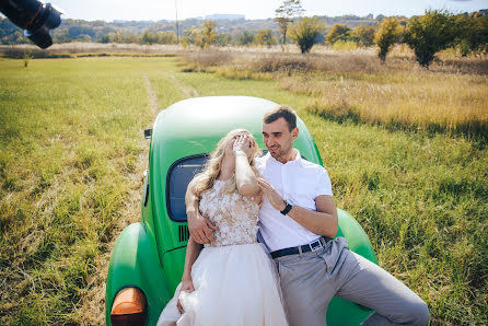
[[[325,26],[317,18],[303,18],[290,27],[290,38],[300,47],[302,54],[309,53]]]

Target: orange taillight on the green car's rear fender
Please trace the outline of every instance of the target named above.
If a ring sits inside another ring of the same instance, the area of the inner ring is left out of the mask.
[[[111,312],[112,325],[144,325],[147,316],[148,303],[140,289],[125,288],[115,295]]]

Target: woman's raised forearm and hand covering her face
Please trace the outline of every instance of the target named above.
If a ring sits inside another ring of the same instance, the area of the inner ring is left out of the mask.
[[[246,135],[240,135],[234,142],[235,155],[235,184],[237,190],[243,196],[256,196],[260,188],[257,184],[257,177],[251,168],[248,155],[252,151],[251,140]]]

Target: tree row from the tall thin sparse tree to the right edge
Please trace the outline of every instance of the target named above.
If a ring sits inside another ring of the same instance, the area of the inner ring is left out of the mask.
[[[325,26],[318,18],[299,18],[304,12],[301,0],[283,0],[276,10],[282,44],[287,35],[300,47],[302,54],[309,53]],[[420,66],[429,68],[434,55],[443,49],[455,47],[462,56],[488,51],[488,14],[473,12],[453,14],[448,10],[427,10],[421,16],[384,18],[377,25],[358,25],[351,30],[346,24],[334,24],[325,34],[325,42],[352,42],[361,46],[376,45],[377,56],[383,62],[394,44],[407,44],[415,53]]]

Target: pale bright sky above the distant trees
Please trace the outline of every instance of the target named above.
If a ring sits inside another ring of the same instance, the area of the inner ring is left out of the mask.
[[[206,16],[214,13],[244,14],[248,20],[275,16],[282,0],[45,0],[67,13],[63,19],[159,21]],[[372,13],[418,15],[427,9],[446,9],[455,13],[488,9],[488,0],[302,0],[305,14],[337,16]]]

